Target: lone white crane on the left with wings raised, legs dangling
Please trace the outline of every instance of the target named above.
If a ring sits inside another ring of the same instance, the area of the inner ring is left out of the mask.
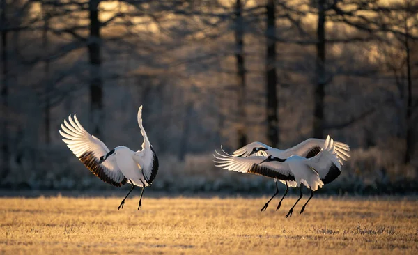
[[[69,123],[64,120],[64,123],[61,124],[63,131],[59,130],[59,133],[65,138],[63,141],[72,153],[100,180],[116,187],[121,187],[128,181],[132,185],[118,210],[123,208],[125,199],[134,190],[135,186],[142,187],[138,210],[142,208],[141,200],[144,188],[153,183],[155,176],[157,176],[158,157],[142,125],[142,105],[139,107],[137,118],[141,134],[144,137],[142,150],[137,152],[125,146],[118,146],[109,150],[100,139],[84,129],[75,114],[74,119],[71,115],[68,116]]]

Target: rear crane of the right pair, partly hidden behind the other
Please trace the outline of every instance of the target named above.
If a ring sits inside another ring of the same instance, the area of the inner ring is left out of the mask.
[[[330,139],[330,136],[328,135],[326,140],[329,140],[329,139]],[[254,141],[251,144],[247,144],[246,146],[243,146],[242,148],[235,150],[233,152],[233,156],[251,157],[253,155],[258,155],[258,156],[263,155],[265,157],[268,157],[271,155],[273,157],[288,158],[288,157],[291,157],[292,155],[299,155],[301,157],[311,158],[317,155],[320,152],[320,150],[324,148],[324,145],[326,144],[326,140],[310,138],[286,150],[272,148],[259,141]],[[336,156],[338,157],[339,163],[341,165],[343,164],[343,161],[348,160],[348,158],[350,157],[350,154],[348,153],[349,151],[350,151],[350,146],[348,146],[348,144],[343,144],[339,141],[334,141],[334,153],[336,153]],[[326,169],[326,171],[321,171],[319,174],[323,183],[327,184],[335,180],[341,174],[341,171],[336,167],[332,167],[330,169]],[[286,192],[281,197],[281,200],[279,204],[277,205],[276,210],[279,210],[281,206],[281,201],[283,201],[286,194],[288,194],[288,186],[296,187],[295,182],[288,181],[288,180],[280,180],[280,181],[281,183],[284,183],[286,185]],[[271,199],[267,203],[265,203],[263,208],[261,208],[261,211],[267,209],[270,201],[272,201],[274,196],[276,196],[279,193],[279,188],[277,187],[277,179],[274,179],[274,183],[276,184],[276,192],[273,194]]]

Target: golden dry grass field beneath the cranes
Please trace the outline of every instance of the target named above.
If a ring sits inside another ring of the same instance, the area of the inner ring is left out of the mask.
[[[0,199],[0,254],[418,254],[416,196]]]

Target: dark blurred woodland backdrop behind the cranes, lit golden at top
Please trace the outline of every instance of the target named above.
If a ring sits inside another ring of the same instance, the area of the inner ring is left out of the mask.
[[[350,145],[319,192],[418,192],[417,0],[0,0],[0,188],[114,189],[61,141],[160,157],[150,190],[268,192],[213,166],[222,144]]]

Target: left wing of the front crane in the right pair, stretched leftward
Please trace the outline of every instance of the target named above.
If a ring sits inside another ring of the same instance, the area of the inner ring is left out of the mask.
[[[222,167],[229,171],[238,171],[240,173],[254,173],[261,176],[267,176],[279,180],[295,180],[295,176],[288,168],[287,164],[280,162],[262,162],[265,157],[234,157],[222,150],[223,153],[218,153],[215,150],[215,166]]]

